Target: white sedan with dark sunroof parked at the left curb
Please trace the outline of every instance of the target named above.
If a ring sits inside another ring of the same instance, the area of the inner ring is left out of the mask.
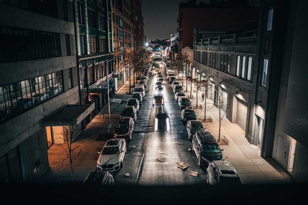
[[[123,167],[123,159],[126,153],[126,141],[123,138],[107,140],[102,151],[98,153],[97,171],[120,170]]]

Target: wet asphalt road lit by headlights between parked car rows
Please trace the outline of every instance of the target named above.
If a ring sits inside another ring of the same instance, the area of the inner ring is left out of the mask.
[[[153,66],[159,68],[167,80],[164,65],[154,60]],[[144,186],[206,185],[206,169],[198,166],[195,154],[189,151],[192,142],[188,140],[186,127],[181,122],[181,110],[174,99],[171,84],[166,81],[163,90],[156,90],[155,83],[156,76],[151,74],[132,140],[126,141],[123,168],[112,173],[115,183]],[[170,132],[166,127],[157,132],[154,130],[157,105],[152,106],[152,100],[157,93],[164,96],[164,110],[170,119]],[[178,162],[186,163],[199,176],[190,175],[187,168],[179,168]]]

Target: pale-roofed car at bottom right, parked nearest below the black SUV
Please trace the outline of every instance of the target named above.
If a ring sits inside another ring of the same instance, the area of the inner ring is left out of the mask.
[[[206,183],[223,186],[241,186],[243,184],[235,168],[227,161],[209,163],[206,169]]]

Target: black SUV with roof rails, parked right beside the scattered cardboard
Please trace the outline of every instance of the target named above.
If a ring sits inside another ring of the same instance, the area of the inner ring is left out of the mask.
[[[215,160],[224,160],[217,141],[210,132],[197,131],[193,135],[193,151],[195,152],[198,165],[207,167]]]

